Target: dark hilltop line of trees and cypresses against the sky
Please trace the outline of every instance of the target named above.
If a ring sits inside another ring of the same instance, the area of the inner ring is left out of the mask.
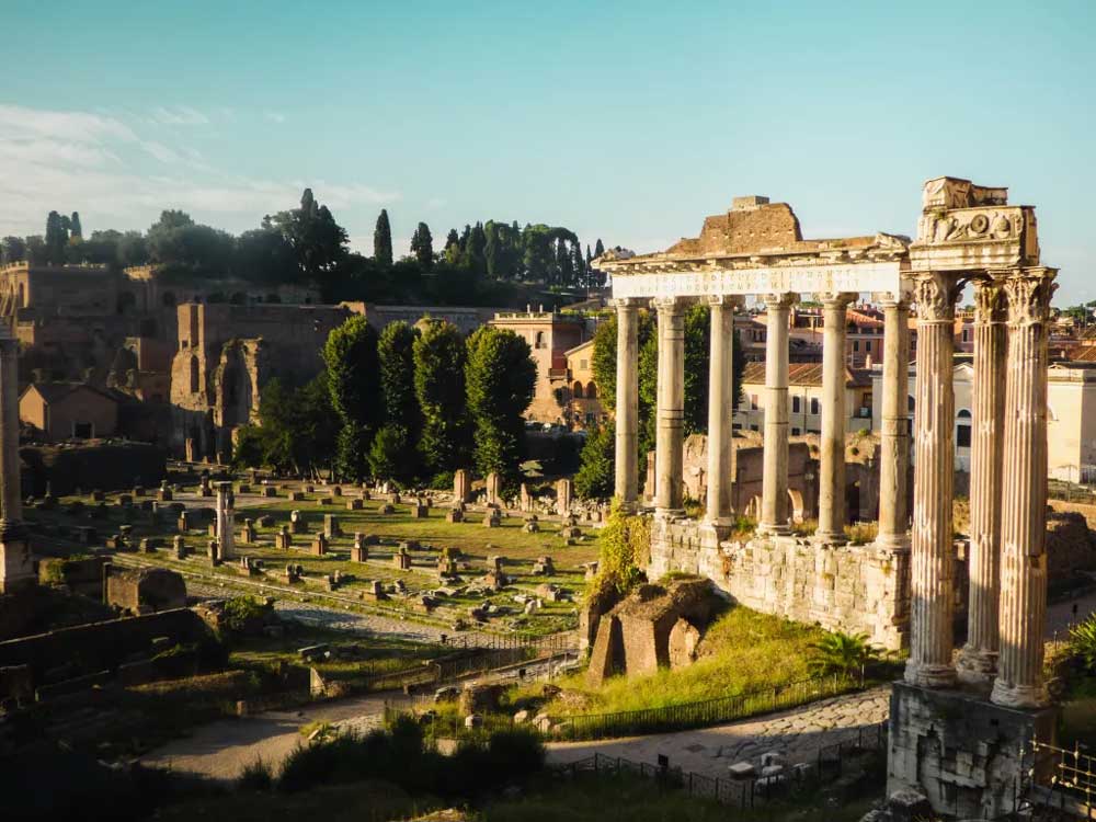
[[[383,209],[373,248],[372,256],[351,250],[346,230],[306,189],[296,208],[266,215],[238,236],[164,209],[147,231],[104,229],[84,237],[78,213],[50,212],[45,233],[0,240],[0,263],[152,265],[173,282],[312,286],[331,302],[515,305],[538,292],[579,294],[604,284],[590,264],[602,241],[592,252],[562,226],[489,219],[448,229],[442,243],[419,222],[407,253],[398,254]]]

